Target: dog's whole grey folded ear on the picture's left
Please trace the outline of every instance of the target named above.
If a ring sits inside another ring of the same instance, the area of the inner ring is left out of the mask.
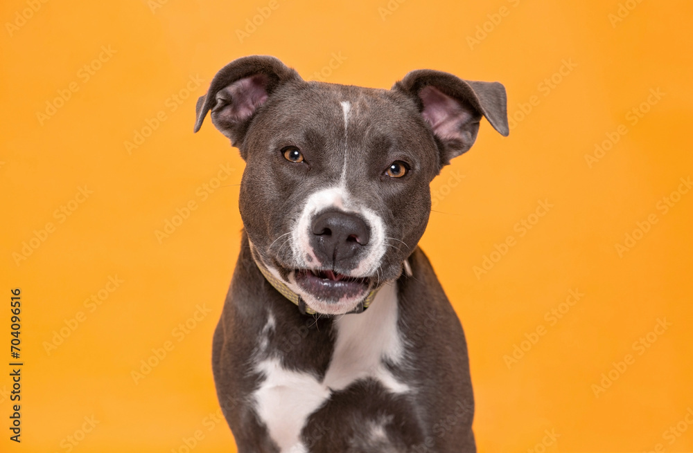
[[[214,126],[239,147],[258,108],[278,86],[288,80],[301,80],[292,68],[279,59],[254,55],[235,59],[212,80],[207,94],[195,106],[197,132],[211,110]]]

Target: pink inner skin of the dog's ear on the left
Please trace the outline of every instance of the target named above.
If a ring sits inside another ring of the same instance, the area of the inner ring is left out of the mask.
[[[229,99],[230,103],[228,103]],[[217,107],[223,109],[219,112],[223,120],[230,122],[246,120],[267,100],[267,76],[256,74],[236,80],[219,91],[216,100]]]

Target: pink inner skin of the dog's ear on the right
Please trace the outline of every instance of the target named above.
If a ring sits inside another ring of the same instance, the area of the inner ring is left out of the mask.
[[[461,140],[464,124],[472,120],[470,111],[454,98],[433,86],[424,86],[419,91],[423,102],[421,115],[431,125],[433,133],[442,140]]]

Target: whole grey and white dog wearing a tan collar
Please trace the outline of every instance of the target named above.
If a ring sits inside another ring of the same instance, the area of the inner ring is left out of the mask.
[[[430,181],[482,116],[508,135],[506,104],[498,82],[427,69],[389,90],[270,56],[215,75],[194,131],[211,111],[245,160],[212,351],[238,452],[475,452],[462,325],[417,243]]]

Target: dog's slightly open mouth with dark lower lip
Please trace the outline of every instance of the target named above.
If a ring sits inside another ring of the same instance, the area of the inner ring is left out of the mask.
[[[299,269],[294,275],[296,283],[307,293],[328,303],[366,297],[371,286],[369,278],[349,277],[333,270]]]

